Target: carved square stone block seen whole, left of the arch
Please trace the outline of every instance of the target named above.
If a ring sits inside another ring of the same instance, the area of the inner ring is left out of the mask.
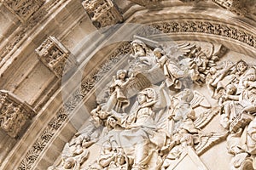
[[[56,77],[62,77],[77,63],[70,57],[70,51],[65,48],[55,37],[48,37],[37,49],[40,59]]]

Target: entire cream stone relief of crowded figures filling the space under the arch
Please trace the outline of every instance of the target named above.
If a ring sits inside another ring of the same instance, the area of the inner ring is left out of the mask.
[[[108,99],[90,112],[90,125],[96,127],[91,132],[96,133],[96,137],[91,134],[92,139],[87,139],[83,133],[77,134],[66,144],[61,163],[55,169],[168,169],[183,158],[183,152],[194,150],[200,160],[199,156],[225,139],[227,151],[234,155],[231,169],[253,169],[253,113],[256,112],[253,88],[256,84],[256,69],[243,60],[236,63],[229,60],[218,62],[222,57],[221,48],[214,54],[214,50],[210,50],[210,55],[207,55],[203,47],[196,44],[182,43],[177,47],[181,51],[185,47],[187,52],[180,53],[182,57],[174,60],[177,65],[183,65],[177,71],[186,73],[183,77],[176,77],[177,80],[186,77],[198,88],[207,85],[212,90],[212,98],[218,100],[216,105],[212,105],[200,92],[186,86],[170,88],[170,75],[165,75],[168,68],[159,70],[164,73],[164,77],[155,82],[158,85],[145,85],[137,88],[137,93],[129,94],[132,84],[141,78],[137,75],[152,74],[154,69],[168,67],[166,62],[173,61],[173,56],[168,56],[171,48],[164,45],[149,47],[136,39],[131,42],[133,52],[128,63],[135,59],[137,65],[129,65],[128,71],[117,71],[117,79],[109,86]],[[197,60],[195,56],[202,57]],[[212,59],[211,66],[201,62],[201,59]],[[192,81],[189,72],[195,67],[191,65],[197,65],[197,71],[204,74],[201,83]],[[124,90],[128,93],[124,93]],[[130,106],[122,109],[123,101]],[[113,105],[120,107],[115,108]],[[203,128],[218,114],[223,130],[205,132]],[[86,132],[85,136],[89,138]],[[84,141],[88,145],[83,145]],[[94,157],[94,161],[87,162],[90,159],[90,147],[96,143],[102,144],[101,154]],[[69,164],[72,166],[65,167],[66,161],[71,162]]]

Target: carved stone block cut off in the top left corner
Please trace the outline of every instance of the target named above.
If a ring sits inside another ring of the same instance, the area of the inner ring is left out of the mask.
[[[44,4],[44,0],[4,0],[2,2],[21,22],[28,20]]]

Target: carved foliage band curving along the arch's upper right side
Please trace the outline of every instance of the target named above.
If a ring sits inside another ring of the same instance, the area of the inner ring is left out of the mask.
[[[155,22],[148,24],[141,30],[137,31],[140,36],[148,36],[161,33],[177,33],[177,32],[197,32],[204,34],[212,34],[220,37],[228,37],[239,42],[256,48],[256,37],[247,32],[242,31],[234,26],[228,26],[221,23],[215,23],[205,20],[169,20],[163,22]]]

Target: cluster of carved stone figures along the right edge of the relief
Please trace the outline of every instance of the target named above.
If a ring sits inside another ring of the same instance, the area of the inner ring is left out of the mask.
[[[255,153],[250,144],[253,144],[251,132],[256,111],[255,66],[243,60],[227,61],[218,66],[212,67],[213,78],[208,87],[214,91],[212,97],[218,99],[220,105],[220,124],[230,132],[227,149],[234,155],[231,169],[254,169]]]

